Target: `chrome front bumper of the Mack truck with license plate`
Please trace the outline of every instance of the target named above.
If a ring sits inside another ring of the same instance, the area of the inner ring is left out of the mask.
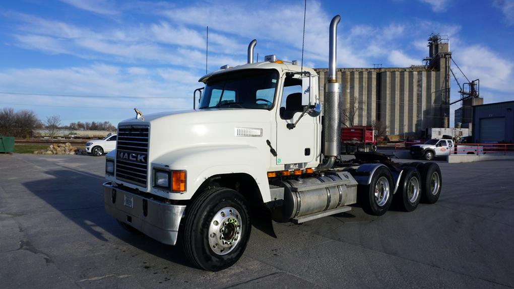
[[[116,191],[116,198],[113,198],[113,190]],[[125,206],[124,196],[133,198],[132,208]],[[111,182],[103,184],[103,199],[105,211],[117,220],[133,226],[146,236],[161,243],[176,244],[178,227],[186,206],[164,204],[144,198],[114,187]],[[113,200],[115,201],[113,202]],[[146,201],[147,204],[146,216],[143,212],[143,201]]]

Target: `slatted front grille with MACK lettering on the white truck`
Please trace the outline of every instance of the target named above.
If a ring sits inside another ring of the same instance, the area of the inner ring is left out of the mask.
[[[148,180],[148,125],[118,127],[116,178],[146,187]]]

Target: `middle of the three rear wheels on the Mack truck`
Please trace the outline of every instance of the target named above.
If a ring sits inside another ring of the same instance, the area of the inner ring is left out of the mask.
[[[394,195],[395,206],[405,211],[413,211],[421,200],[421,176],[415,167],[403,169],[400,187]]]

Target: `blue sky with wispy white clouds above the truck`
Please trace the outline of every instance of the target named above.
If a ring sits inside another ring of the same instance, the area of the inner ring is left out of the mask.
[[[42,120],[58,114],[63,124],[117,124],[133,117],[134,107],[143,113],[190,109],[205,74],[206,26],[209,71],[245,63],[253,38],[259,60],[267,54],[300,60],[303,5],[302,0],[4,1],[0,92],[84,97],[0,93],[0,108],[31,109]],[[335,14],[341,15],[339,67],[421,64],[428,36],[440,33],[448,35],[453,59],[468,78],[480,78],[485,103],[514,99],[514,0],[307,0],[305,65],[327,67],[327,30]],[[459,98],[457,91],[452,80],[452,100]],[[451,107],[452,118],[458,106]]]

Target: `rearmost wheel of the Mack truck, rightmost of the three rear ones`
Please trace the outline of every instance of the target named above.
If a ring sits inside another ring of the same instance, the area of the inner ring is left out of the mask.
[[[421,168],[421,201],[428,204],[437,202],[443,188],[441,170],[436,163],[426,163]]]

